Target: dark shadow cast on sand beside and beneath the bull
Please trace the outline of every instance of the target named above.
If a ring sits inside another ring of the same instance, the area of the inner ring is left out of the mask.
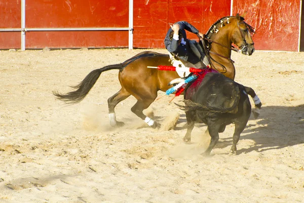
[[[241,134],[242,139],[253,140],[254,145],[248,149],[238,150],[238,154],[251,151],[267,151],[282,149],[304,143],[304,105],[296,107],[268,106],[262,107],[260,116],[255,119],[250,116],[247,127]],[[252,124],[256,120],[255,124]],[[175,130],[186,129],[185,115],[181,115],[178,123],[184,123]],[[196,127],[206,126],[196,124]],[[225,132],[224,132],[225,133]],[[232,145],[232,135],[229,138],[221,139],[215,148],[225,148]]]

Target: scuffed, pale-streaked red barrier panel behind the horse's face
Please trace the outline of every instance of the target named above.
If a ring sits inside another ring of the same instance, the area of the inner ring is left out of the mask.
[[[299,0],[234,0],[233,13],[247,11],[245,20],[256,28],[256,50],[298,51]]]

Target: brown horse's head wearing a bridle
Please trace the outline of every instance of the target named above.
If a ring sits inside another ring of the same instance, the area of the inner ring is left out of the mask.
[[[254,52],[254,43],[252,35],[254,28],[244,21],[244,17],[237,14],[234,21],[235,26],[232,31],[232,42],[239,47],[242,54],[251,55]]]

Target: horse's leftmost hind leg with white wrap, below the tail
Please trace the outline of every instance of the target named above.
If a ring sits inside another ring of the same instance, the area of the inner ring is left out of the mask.
[[[124,122],[119,122],[116,120],[115,107],[122,100],[128,98],[131,94],[125,89],[119,90],[116,94],[108,98],[108,110],[109,110],[109,119],[111,126],[123,126]]]

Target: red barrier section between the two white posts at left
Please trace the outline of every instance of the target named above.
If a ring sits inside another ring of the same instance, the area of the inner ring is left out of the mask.
[[[26,0],[27,28],[128,27],[128,1]],[[27,31],[26,48],[128,47],[128,31]]]

